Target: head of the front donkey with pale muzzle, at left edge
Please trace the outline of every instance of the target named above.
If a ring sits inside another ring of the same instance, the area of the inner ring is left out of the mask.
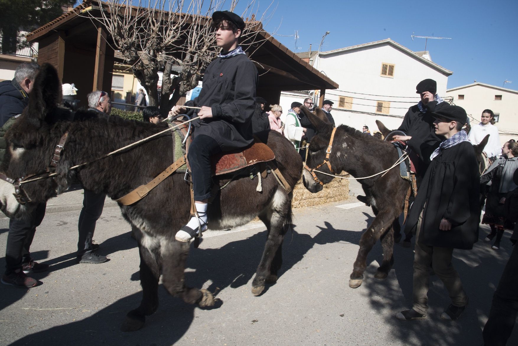
[[[69,112],[57,106],[61,102],[61,90],[55,68],[42,65],[29,105],[5,135],[7,149],[0,171],[7,181],[0,180],[0,209],[8,217],[20,217],[31,211],[36,203],[55,196],[57,186],[63,183],[59,169],[57,177],[23,183],[48,175],[54,148],[66,131],[63,120],[69,118]],[[13,181],[21,182],[21,188]],[[24,201],[27,203],[23,204]]]

